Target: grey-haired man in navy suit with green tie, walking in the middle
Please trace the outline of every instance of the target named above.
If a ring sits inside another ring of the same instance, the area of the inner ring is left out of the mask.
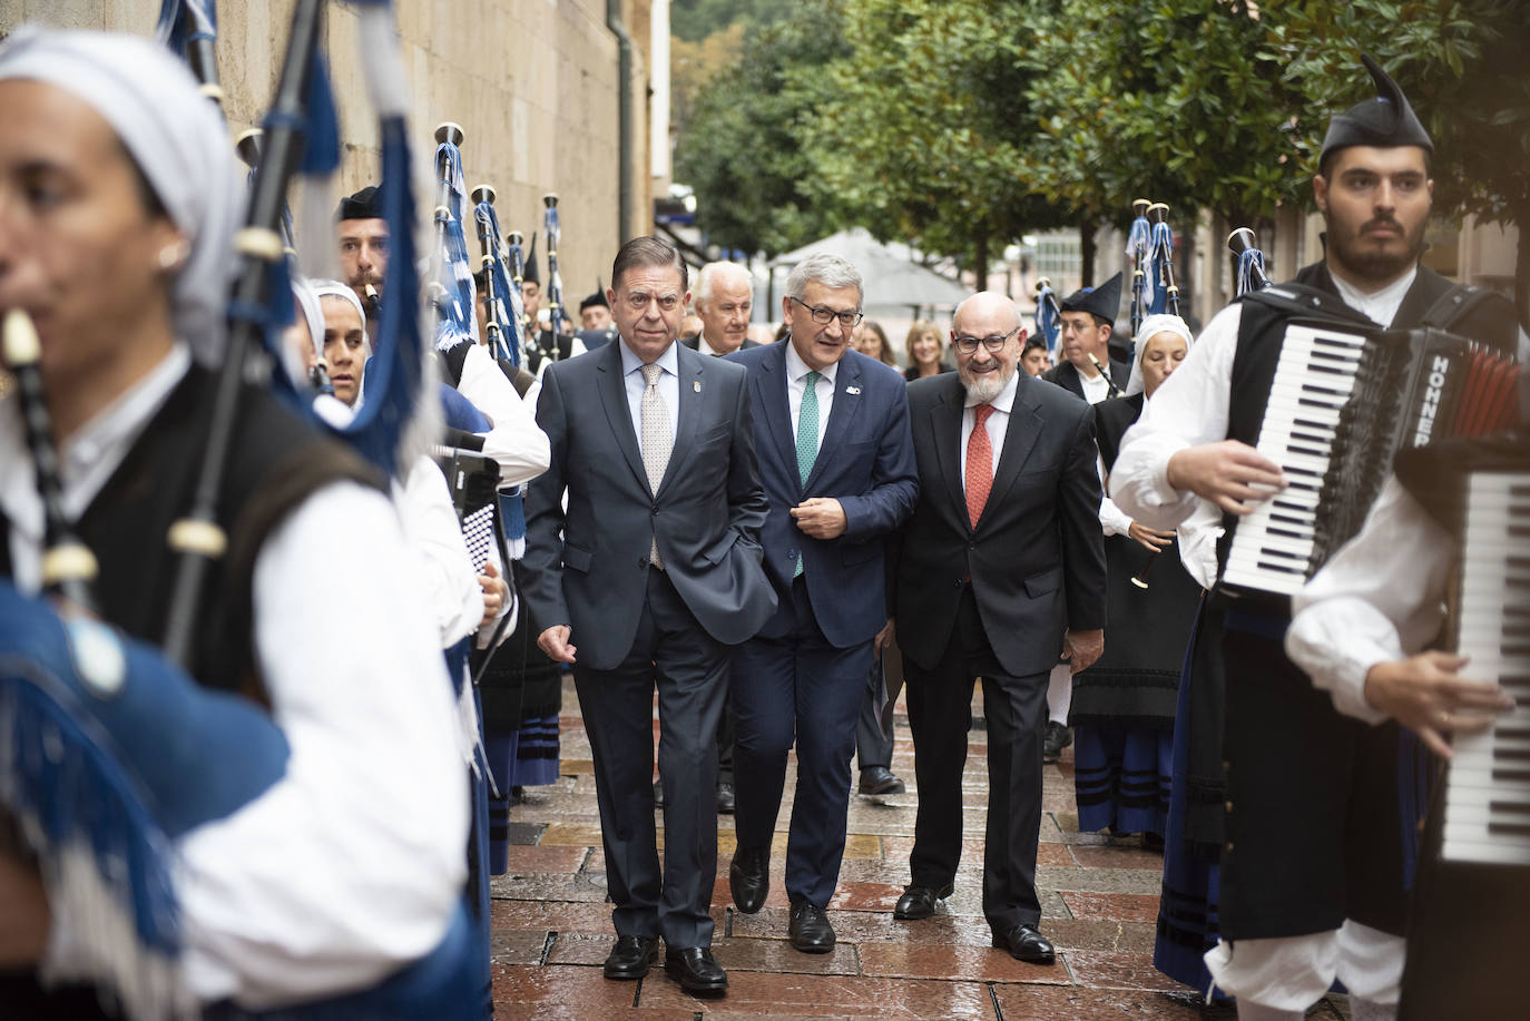
[[[776,614],[733,654],[739,845],[728,880],[739,911],[760,909],[796,739],[788,935],[799,951],[826,954],[855,724],[872,640],[889,617],[884,542],[920,490],[903,377],[849,349],[861,318],[860,272],[837,256],[797,263],[782,317],[788,338],[727,358],[750,372],[770,496],[760,540],[777,599]]]

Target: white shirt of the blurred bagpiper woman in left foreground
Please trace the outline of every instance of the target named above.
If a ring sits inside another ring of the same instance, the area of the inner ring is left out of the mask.
[[[70,520],[188,364],[177,346],[63,444]],[[43,511],[24,450],[15,401],[0,403],[0,508],[14,580],[35,592]],[[413,577],[392,504],[355,482],[303,501],[256,557],[252,643],[291,758],[260,798],[174,843],[185,981],[203,1003],[266,1009],[366,987],[445,934],[467,876],[468,790]],[[84,977],[78,922],[54,918],[47,974]]]

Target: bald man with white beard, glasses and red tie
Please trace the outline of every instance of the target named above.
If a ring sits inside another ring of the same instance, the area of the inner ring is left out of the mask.
[[[993,944],[1051,964],[1039,931],[1047,677],[1105,648],[1105,540],[1094,415],[1016,372],[1014,303],[984,291],[952,321],[956,372],[909,386],[920,502],[895,571],[895,621],[913,730],[920,811],[897,918],[927,918],[961,856],[961,773],[972,686],[988,727],[982,911]]]

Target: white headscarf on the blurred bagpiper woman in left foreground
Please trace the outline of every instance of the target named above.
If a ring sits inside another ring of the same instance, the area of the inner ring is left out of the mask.
[[[0,46],[0,81],[12,78],[69,92],[116,132],[191,245],[171,288],[176,335],[197,361],[219,364],[242,202],[217,107],[170,51],[136,35],[21,26]]]

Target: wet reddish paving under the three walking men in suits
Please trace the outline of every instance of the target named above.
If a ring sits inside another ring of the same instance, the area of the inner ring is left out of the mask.
[[[981,698],[981,695],[978,696]],[[979,703],[975,703],[981,706]],[[981,713],[979,713],[981,715]],[[1216,1018],[1195,990],[1152,967],[1154,922],[1163,859],[1137,837],[1079,833],[1073,749],[1045,767],[1037,886],[1042,932],[1057,946],[1051,967],[1024,964],[993,949],[982,917],[982,828],[987,799],[984,732],[973,730],[964,776],[964,842],[955,894],[933,918],[897,922],[892,906],[909,882],[918,793],[913,742],[898,712],[892,771],[909,793],[852,796],[840,883],[829,905],[832,954],[799,954],[786,943],[782,882],[789,801],[782,807],[771,857],[771,894],[756,915],[733,909],[728,863],[733,819],[719,817],[713,951],[728,970],[728,993],[699,1000],[655,967],[636,983],[600,970],[615,943],[606,903],[606,866],[595,808],[589,741],[572,684],[566,683],[562,773],[532,787],[511,811],[509,873],[493,886],[494,1004],[499,1018]],[[794,773],[788,773],[789,799]],[[662,830],[661,830],[662,839]],[[1310,1018],[1348,1018],[1343,997]]]

